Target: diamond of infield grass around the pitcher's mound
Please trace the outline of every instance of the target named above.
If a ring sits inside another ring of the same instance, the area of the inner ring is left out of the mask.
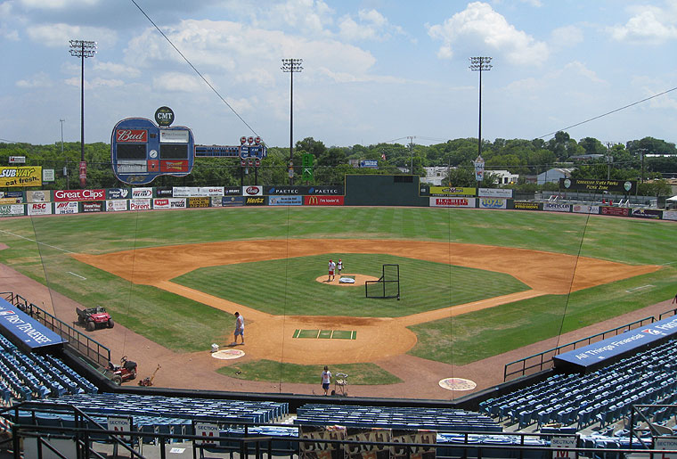
[[[399,264],[400,301],[367,299],[363,286],[316,282],[319,275],[326,279],[324,269],[328,257],[343,257],[349,266],[348,272],[376,278],[381,275],[382,265]],[[265,289],[260,288],[262,279]],[[356,253],[203,267],[172,281],[279,316],[409,316],[529,289],[511,275],[502,273],[392,255]],[[478,289],[477,285],[482,288]]]

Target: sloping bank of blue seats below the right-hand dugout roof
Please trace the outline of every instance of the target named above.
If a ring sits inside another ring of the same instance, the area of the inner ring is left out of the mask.
[[[632,405],[656,403],[677,390],[677,365],[666,365],[677,341],[608,365],[588,374],[555,374],[545,381],[480,404],[480,411],[518,427],[537,422],[604,426],[630,412]]]

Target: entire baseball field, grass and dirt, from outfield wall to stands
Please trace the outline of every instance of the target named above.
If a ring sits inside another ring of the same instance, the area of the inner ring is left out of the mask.
[[[118,325],[94,339],[142,375],[161,362],[167,387],[309,393],[331,365],[353,394],[449,398],[435,381],[487,387],[513,357],[677,290],[677,225],[621,217],[191,209],[9,218],[0,234],[0,262],[54,292],[46,309],[71,323],[71,302],[107,307]],[[327,282],[330,258],[355,283]],[[401,298],[365,298],[385,264],[399,266]],[[232,341],[235,311],[244,356],[211,358],[212,343]],[[196,367],[200,378],[178,376]]]

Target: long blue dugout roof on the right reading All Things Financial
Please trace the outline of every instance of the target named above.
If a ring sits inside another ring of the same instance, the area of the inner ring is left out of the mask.
[[[635,352],[637,348],[658,340],[668,340],[677,334],[677,316],[648,324],[643,327],[621,333],[617,336],[601,340],[583,348],[577,348],[559,356],[553,357],[555,367],[575,365],[578,370],[584,370],[591,365],[613,357],[620,357],[625,353]]]

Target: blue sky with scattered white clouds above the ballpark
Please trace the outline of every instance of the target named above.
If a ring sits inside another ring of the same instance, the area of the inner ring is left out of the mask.
[[[290,99],[295,143],[477,138],[474,56],[486,140],[677,143],[677,0],[0,0],[0,142],[79,141],[70,39],[86,143],[168,106],[199,144],[289,146]]]

